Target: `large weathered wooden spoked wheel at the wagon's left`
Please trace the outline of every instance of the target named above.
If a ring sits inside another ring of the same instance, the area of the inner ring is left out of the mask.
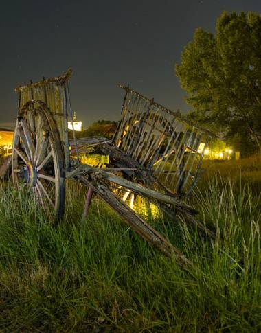
[[[52,113],[41,101],[27,102],[14,131],[12,179],[27,186],[36,203],[53,207],[58,218],[65,209],[65,157]]]

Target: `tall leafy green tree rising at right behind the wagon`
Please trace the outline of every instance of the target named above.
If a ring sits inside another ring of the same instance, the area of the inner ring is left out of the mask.
[[[197,29],[176,66],[188,114],[230,141],[261,151],[261,16],[223,12],[216,33]]]

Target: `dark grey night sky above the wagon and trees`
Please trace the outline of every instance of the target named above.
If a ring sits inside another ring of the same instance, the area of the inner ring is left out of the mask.
[[[0,126],[16,117],[15,87],[69,67],[71,102],[84,127],[119,119],[118,83],[188,111],[174,64],[197,27],[214,32],[223,10],[261,13],[261,1],[1,1]]]

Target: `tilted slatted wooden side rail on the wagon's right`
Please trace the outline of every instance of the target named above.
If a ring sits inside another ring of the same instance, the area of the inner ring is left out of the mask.
[[[205,148],[214,133],[181,113],[170,111],[129,87],[115,145],[144,165],[155,180],[177,194],[188,195],[198,180]]]

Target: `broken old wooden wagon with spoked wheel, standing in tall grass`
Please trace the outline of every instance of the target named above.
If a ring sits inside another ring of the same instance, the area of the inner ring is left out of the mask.
[[[133,91],[125,91],[122,118],[113,139],[69,139],[73,124],[68,80],[65,75],[16,88],[19,111],[14,132],[12,179],[27,187],[43,207],[52,206],[58,218],[65,209],[65,179],[88,187],[87,213],[93,192],[125,222],[165,255],[188,262],[181,251],[163,238],[136,211],[135,196],[147,198],[171,218],[197,225],[196,211],[182,198],[192,191],[211,133],[186,122],[160,104]],[[200,144],[205,145],[199,150]],[[80,163],[80,152],[109,155],[106,168]]]

